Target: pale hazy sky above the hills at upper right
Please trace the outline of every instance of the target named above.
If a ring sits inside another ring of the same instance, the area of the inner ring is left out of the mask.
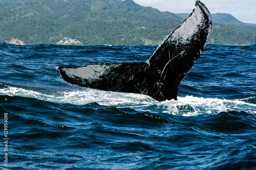
[[[134,0],[141,6],[151,6],[160,11],[191,13],[195,0]],[[256,0],[201,0],[210,13],[229,13],[242,22],[256,23]]]

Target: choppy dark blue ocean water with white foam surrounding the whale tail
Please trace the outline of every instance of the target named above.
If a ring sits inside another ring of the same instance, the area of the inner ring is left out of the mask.
[[[146,61],[155,50],[0,44],[0,167],[256,169],[256,45],[207,45],[178,101],[76,87],[55,70]]]

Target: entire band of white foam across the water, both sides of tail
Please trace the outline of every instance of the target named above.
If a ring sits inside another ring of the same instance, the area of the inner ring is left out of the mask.
[[[47,94],[16,87],[2,88],[0,89],[0,95],[35,98],[58,104],[85,105],[96,102],[104,106],[130,107],[138,112],[163,112],[182,116],[218,114],[222,111],[246,111],[256,114],[256,104],[241,100],[205,99],[195,96],[178,97],[178,101],[157,102],[149,96],[134,93],[85,89],[84,91],[51,92],[51,94]]]

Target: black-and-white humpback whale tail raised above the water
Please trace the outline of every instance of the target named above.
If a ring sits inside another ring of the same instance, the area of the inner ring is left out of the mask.
[[[211,33],[208,9],[196,1],[193,12],[158,46],[147,62],[56,67],[68,83],[107,91],[142,93],[155,100],[177,100],[179,86],[200,57]]]

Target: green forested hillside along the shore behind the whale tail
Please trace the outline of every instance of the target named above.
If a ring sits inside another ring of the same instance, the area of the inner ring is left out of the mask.
[[[0,0],[0,16],[0,42],[26,44],[158,45],[183,21],[132,0]],[[214,23],[209,43],[255,44],[255,29]]]

